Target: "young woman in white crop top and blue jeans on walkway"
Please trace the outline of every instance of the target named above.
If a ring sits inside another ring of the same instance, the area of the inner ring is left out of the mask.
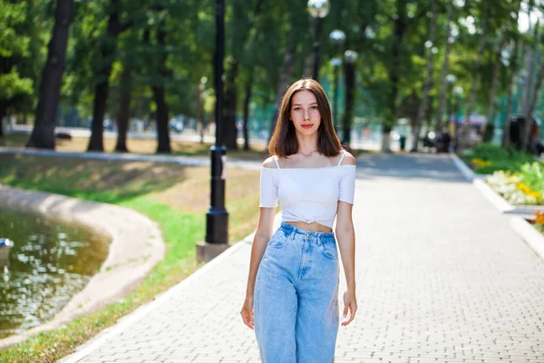
[[[339,323],[336,239],[347,283],[343,326],[357,310],[355,158],[342,149],[319,83],[301,79],[288,88],[268,152],[242,319],[255,329],[265,363],[332,362]],[[282,221],[273,233],[278,199]]]

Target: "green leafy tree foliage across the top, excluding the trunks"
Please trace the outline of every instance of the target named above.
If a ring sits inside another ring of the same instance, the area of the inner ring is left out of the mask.
[[[321,21],[320,76],[322,80],[331,77],[332,67],[328,62],[345,49],[358,52],[355,117],[363,117],[371,123],[393,123],[397,117],[413,119],[423,96],[428,52],[432,52],[435,64],[429,92],[429,115],[432,117],[435,113],[440,101],[442,60],[448,42],[444,31],[446,1],[436,1],[437,36],[430,48],[426,45],[431,11],[431,3],[427,0],[336,0],[331,3],[330,14]],[[518,30],[515,15],[520,11],[520,1],[466,1],[463,6],[452,3],[454,32],[449,40],[449,73],[457,77],[452,86],[461,87],[463,93],[459,100],[452,100],[450,89],[448,98],[452,107],[460,106],[461,113],[467,103],[463,97],[471,89],[473,64],[485,16],[488,19],[485,24],[487,40],[476,75],[479,79],[476,112],[485,113],[489,103],[500,40],[510,46],[522,39],[524,43],[520,49],[534,42],[532,36],[520,34]],[[53,0],[0,0],[0,57],[9,60],[9,67],[0,69],[0,100],[6,100],[5,104],[14,111],[36,102],[37,80],[44,63],[54,3]],[[208,105],[206,113],[209,113],[209,103],[213,102],[210,91],[214,81],[215,2],[120,0],[120,21],[129,27],[117,38],[106,31],[111,4],[111,0],[76,1],[63,79],[63,105],[77,108],[81,117],[89,116],[94,86],[103,81],[101,69],[113,61],[108,102],[111,116],[117,114],[120,74],[125,68],[131,69],[133,79],[131,117],[153,118],[155,105],[149,91],[153,85],[165,86],[170,113],[196,116],[195,96],[202,77],[208,79],[204,94],[209,97],[203,101]],[[313,21],[307,14],[306,2],[234,0],[226,3],[225,10],[225,55],[238,61],[238,100],[243,99],[246,85],[252,82],[252,103],[258,109],[268,109],[275,100],[277,80],[284,72],[282,64],[289,39],[296,45],[294,79],[309,75],[305,74],[304,65],[312,62],[314,40]],[[399,39],[395,34],[395,22],[403,14],[403,37]],[[167,34],[166,44],[158,44],[156,40],[158,25],[163,26]],[[333,29],[341,29],[346,34],[342,49],[329,40]],[[111,57],[104,57],[101,49],[112,42],[117,42],[116,52]],[[393,49],[397,45],[399,55],[395,59]],[[518,69],[523,60],[522,56],[520,59],[516,56],[514,52],[510,65],[500,65],[497,96],[506,93],[509,74]],[[160,67],[164,57],[165,70]],[[393,64],[395,60],[397,63]],[[398,73],[398,79],[391,77],[393,71]],[[393,86],[398,91],[393,100],[397,114],[391,114],[390,109]],[[241,109],[238,104],[238,114]]]

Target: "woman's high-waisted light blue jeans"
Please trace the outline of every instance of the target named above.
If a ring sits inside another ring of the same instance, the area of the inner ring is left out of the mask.
[[[264,363],[334,361],[338,276],[333,232],[281,223],[268,241],[254,291],[255,334]]]

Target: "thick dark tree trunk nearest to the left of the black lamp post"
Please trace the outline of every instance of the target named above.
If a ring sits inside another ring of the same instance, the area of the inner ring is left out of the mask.
[[[166,44],[166,31],[164,30],[164,22],[158,25],[157,29],[157,44],[164,47]],[[157,153],[166,152],[170,153],[170,133],[168,130],[168,104],[164,99],[164,82],[169,76],[166,69],[166,55],[160,55],[160,85],[153,86],[153,95],[155,96],[155,103],[157,103]]]

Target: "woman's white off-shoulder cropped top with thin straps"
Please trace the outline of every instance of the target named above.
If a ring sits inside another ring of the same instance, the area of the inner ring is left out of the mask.
[[[316,221],[333,228],[338,201],[354,203],[355,165],[341,165],[345,151],[336,166],[323,168],[280,169],[261,167],[260,207],[277,207],[281,221]]]

